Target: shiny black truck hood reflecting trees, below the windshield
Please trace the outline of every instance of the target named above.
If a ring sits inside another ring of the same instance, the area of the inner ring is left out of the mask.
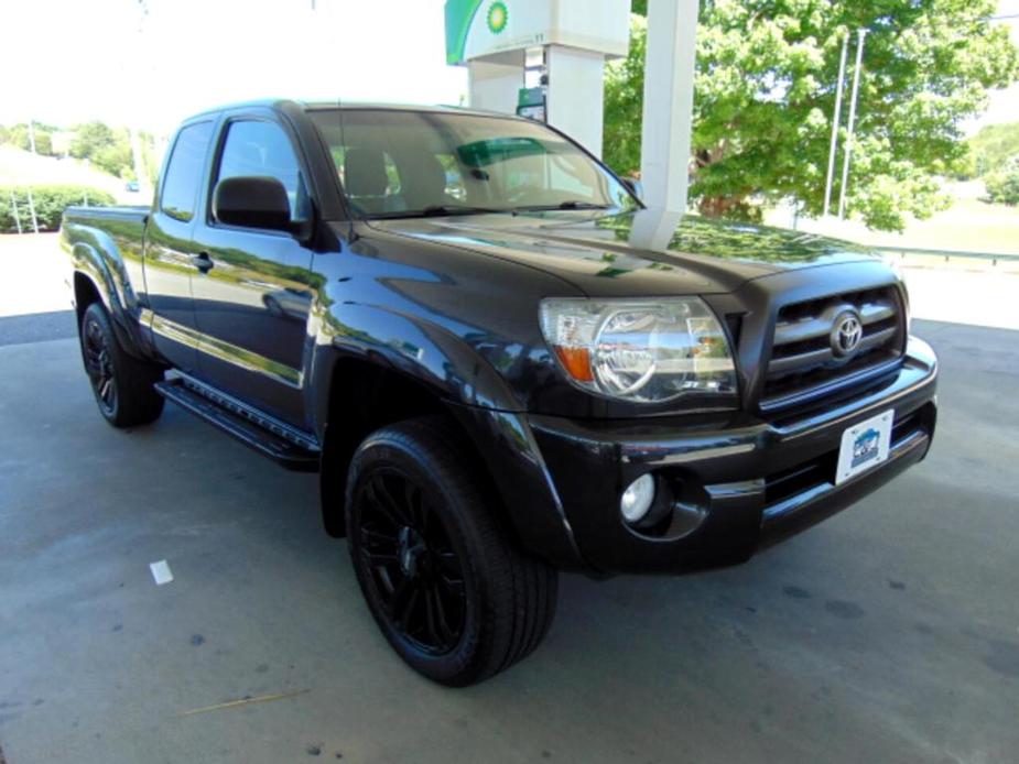
[[[811,233],[651,209],[402,218],[371,226],[536,268],[599,297],[724,293],[790,270],[880,260],[857,244]]]

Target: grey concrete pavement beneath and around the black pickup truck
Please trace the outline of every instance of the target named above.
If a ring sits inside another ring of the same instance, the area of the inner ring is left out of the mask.
[[[73,340],[0,347],[0,760],[1015,760],[1019,334],[914,328],[924,463],[742,567],[564,577],[539,651],[458,691],[390,652],[314,476],[172,406],[116,432]]]

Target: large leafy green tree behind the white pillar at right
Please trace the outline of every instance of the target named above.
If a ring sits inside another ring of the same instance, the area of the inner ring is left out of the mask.
[[[692,199],[709,216],[758,217],[755,199],[781,198],[821,214],[842,41],[863,28],[850,210],[885,230],[901,230],[907,214],[930,216],[947,203],[937,176],[965,163],[961,122],[1019,73],[1008,30],[989,21],[995,9],[995,0],[704,0]],[[633,10],[646,13],[646,0]],[[639,166],[646,30],[633,19],[630,56],[606,77],[606,160],[621,173]]]

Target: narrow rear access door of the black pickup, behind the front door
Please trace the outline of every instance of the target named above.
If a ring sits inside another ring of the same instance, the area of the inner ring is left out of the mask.
[[[145,227],[145,291],[153,341],[164,358],[188,372],[198,364],[191,281],[202,264],[192,231],[214,127],[207,119],[177,132]]]

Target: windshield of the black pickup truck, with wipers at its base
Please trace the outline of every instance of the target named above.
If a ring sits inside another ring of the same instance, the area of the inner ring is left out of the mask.
[[[542,124],[467,113],[311,111],[347,199],[370,218],[633,209],[579,146]]]

